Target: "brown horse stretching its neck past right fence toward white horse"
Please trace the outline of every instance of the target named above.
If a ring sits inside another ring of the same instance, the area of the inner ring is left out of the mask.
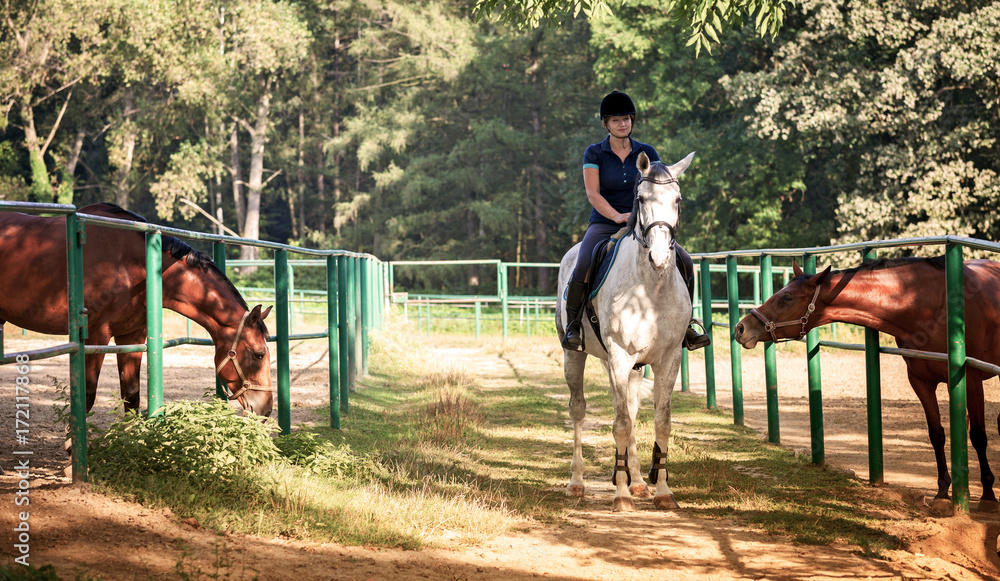
[[[853,323],[888,333],[904,349],[947,353],[948,324],[944,258],[878,260],[859,268],[807,276],[795,265],[796,277],[763,305],[743,317],[735,338],[753,349],[759,341],[801,338],[820,325]],[[1000,362],[1000,263],[965,263],[966,352],[992,363]],[[950,505],[951,476],[945,459],[945,431],[941,426],[936,390],[948,382],[948,364],[904,358],[910,386],[927,417],[938,468],[935,508]],[[981,510],[996,510],[993,472],[986,458],[986,418],[983,381],[992,374],[969,367],[966,398],[969,438],[979,457],[983,483]],[[1000,424],[998,424],[1000,426]]]

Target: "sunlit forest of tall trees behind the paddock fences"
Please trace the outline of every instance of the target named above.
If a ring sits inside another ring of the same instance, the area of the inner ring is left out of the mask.
[[[658,0],[536,28],[474,5],[4,0],[0,199],[384,260],[557,262],[618,89],[663,161],[697,151],[691,252],[1000,239],[1000,2],[801,0],[773,37],[709,19],[718,41],[694,46]]]

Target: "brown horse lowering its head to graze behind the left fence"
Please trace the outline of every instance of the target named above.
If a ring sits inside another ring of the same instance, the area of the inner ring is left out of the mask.
[[[81,214],[146,222],[113,204]],[[141,232],[90,224],[83,247],[88,345],[146,341],[146,246]],[[271,413],[270,354],[261,306],[247,307],[239,291],[204,254],[172,236],[163,242],[163,306],[190,318],[212,337],[215,364],[230,399],[261,416]],[[66,219],[0,212],[0,326],[5,321],[39,333],[66,334]],[[125,409],[139,408],[142,353],[119,353]],[[94,405],[104,355],[86,356],[87,410]]]

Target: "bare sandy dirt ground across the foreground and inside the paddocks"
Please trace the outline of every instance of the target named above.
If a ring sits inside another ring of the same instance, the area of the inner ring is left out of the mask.
[[[8,341],[8,350],[31,348],[26,343]],[[556,349],[541,347],[527,355],[498,357],[492,345],[473,344],[463,348],[434,348],[435,360],[460,362],[480,375],[484,385],[530,384],[533,376],[558,374],[561,356]],[[326,362],[322,342],[307,342],[292,351],[294,424],[321,423],[312,408],[323,405],[326,395]],[[165,368],[169,376],[165,397],[196,397],[185,386],[210,385],[210,352],[183,347],[167,351]],[[781,358],[782,385],[801,386],[791,358]],[[827,459],[831,465],[854,470],[867,477],[867,456],[863,431],[863,370],[857,379],[854,359],[831,356],[824,359],[829,379],[824,385],[826,404]],[[699,360],[692,365],[692,389],[704,391],[703,371],[699,380]],[[744,357],[747,425],[766,426],[763,387],[755,385],[754,360]],[[898,369],[884,363],[886,375]],[[804,364],[802,365],[804,367]],[[703,370],[703,366],[701,367]],[[844,377],[841,378],[841,374]],[[12,531],[20,508],[15,505],[19,479],[10,472],[13,464],[13,381],[14,370],[0,367],[0,527],[5,562],[16,556]],[[804,371],[803,371],[804,374]],[[762,373],[760,374],[763,375]],[[728,376],[723,361],[717,378]],[[563,521],[539,525],[531,530],[493,539],[482,546],[455,550],[400,551],[348,547],[331,543],[309,543],[289,539],[263,539],[218,535],[192,524],[178,522],[169,511],[151,511],[125,502],[115,502],[93,494],[86,486],[73,486],[62,471],[65,465],[62,436],[52,429],[51,404],[57,393],[53,378],[65,382],[65,360],[39,362],[31,379],[30,477],[30,563],[52,564],[61,578],[73,578],[83,570],[105,579],[176,578],[180,566],[191,578],[198,569],[213,570],[220,554],[237,556],[224,572],[229,577],[261,579],[954,579],[994,578],[987,563],[988,549],[983,539],[1000,532],[993,520],[975,517],[932,519],[907,523],[899,531],[918,539],[912,552],[893,552],[889,559],[866,559],[850,546],[811,547],[783,542],[768,535],[747,531],[733,522],[707,521],[688,516],[682,510],[656,512],[648,501],[640,502],[634,514],[609,511],[613,488],[609,478],[588,470],[589,495],[582,501],[567,500],[573,510]],[[786,379],[787,378],[787,379]],[[699,383],[701,381],[701,383]],[[912,395],[885,380],[886,400],[886,480],[892,485],[887,494],[900,498],[932,489],[933,462],[926,443],[919,406]],[[860,385],[861,395],[856,394]],[[904,384],[905,385],[905,384]],[[143,388],[145,389],[145,388]],[[720,379],[719,403],[728,407],[731,392]],[[908,389],[908,388],[906,388]],[[796,393],[798,391],[799,393]],[[991,392],[995,395],[996,389]],[[111,408],[117,392],[114,359],[105,364],[98,407]],[[891,393],[890,393],[891,392]],[[898,392],[898,393],[897,393]],[[908,397],[907,397],[908,396]],[[145,396],[143,396],[145,399]],[[860,408],[859,408],[860,402]],[[991,402],[990,413],[1000,407]],[[789,387],[782,394],[782,439],[793,448],[808,449],[808,420],[803,420],[805,389]],[[859,411],[860,414],[859,414]],[[860,418],[858,417],[860,415]],[[897,415],[905,416],[896,418]],[[857,430],[858,422],[862,430]],[[567,431],[567,442],[572,438]],[[587,435],[590,443],[604,445],[603,438]],[[926,448],[926,449],[925,449]],[[860,461],[858,460],[860,455]],[[18,457],[20,458],[20,457]],[[929,476],[926,473],[930,464]],[[1000,464],[997,464],[1000,465]],[[568,468],[567,468],[568,472]],[[973,479],[978,470],[973,471]],[[974,490],[973,496],[978,496]],[[994,560],[996,560],[994,558]],[[245,574],[244,574],[245,573]]]

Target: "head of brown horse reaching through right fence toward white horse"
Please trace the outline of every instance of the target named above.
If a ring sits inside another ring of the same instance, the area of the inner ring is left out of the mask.
[[[794,261],[792,269],[795,278],[736,325],[734,337],[744,349],[753,349],[758,341],[801,339],[816,326],[819,317],[813,317],[812,325],[809,319],[821,307],[817,304],[819,289],[829,278],[830,267],[813,276],[803,273]]]

